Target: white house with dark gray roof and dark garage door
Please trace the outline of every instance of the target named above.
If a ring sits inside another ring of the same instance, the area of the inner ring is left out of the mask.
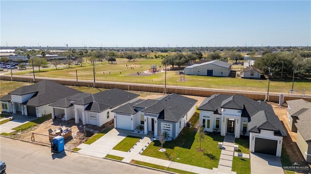
[[[212,95],[198,107],[200,126],[207,132],[249,136],[251,152],[281,156],[287,136],[273,108],[263,101],[243,95]]]

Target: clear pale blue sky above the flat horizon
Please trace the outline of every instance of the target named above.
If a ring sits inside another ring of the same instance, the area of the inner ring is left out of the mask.
[[[0,46],[311,45],[311,1],[0,1]]]

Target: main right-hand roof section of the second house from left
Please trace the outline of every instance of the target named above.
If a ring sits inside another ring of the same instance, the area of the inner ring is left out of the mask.
[[[85,96],[85,97],[83,97]],[[127,101],[130,101],[139,95],[129,93],[120,89],[111,89],[102,91],[96,94],[85,94],[80,96],[74,96],[69,98],[70,100],[76,101],[72,104],[76,105],[87,105],[86,111],[102,112],[109,108],[115,108]]]

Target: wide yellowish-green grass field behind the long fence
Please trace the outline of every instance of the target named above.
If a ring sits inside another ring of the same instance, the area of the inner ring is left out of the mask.
[[[96,81],[117,81],[131,82],[142,84],[165,84],[165,73],[156,73],[154,75],[137,75],[137,72],[149,70],[151,65],[157,65],[157,69],[163,70],[161,59],[137,59],[135,62],[128,62],[126,59],[118,59],[118,64],[108,64],[107,62],[95,63],[95,80]],[[128,65],[128,66],[127,66]],[[159,68],[161,66],[161,68]],[[91,64],[72,65],[70,68],[55,68],[42,69],[41,72],[36,70],[36,77],[47,78],[66,78],[78,80],[93,80],[93,66]],[[77,71],[77,74],[76,74]],[[110,73],[109,73],[110,72]],[[14,75],[23,75],[32,77],[32,71],[19,71]],[[187,86],[187,87],[202,87],[211,89],[226,89],[226,90],[241,90],[241,91],[259,91],[266,92],[268,87],[267,80],[257,79],[235,79],[225,77],[207,77],[207,76],[184,76],[184,81],[180,80],[181,76],[178,71],[167,71],[167,85],[171,86]],[[183,79],[183,78],[182,78]],[[7,85],[4,86],[4,88]],[[9,88],[9,87],[8,87]],[[292,89],[292,80],[276,81],[271,80],[270,92],[289,94]],[[311,94],[311,80],[296,80],[294,81],[294,94],[302,95],[305,93]],[[1,85],[2,91],[2,85]],[[2,93],[2,92],[1,92]],[[2,95],[2,94],[1,94]]]

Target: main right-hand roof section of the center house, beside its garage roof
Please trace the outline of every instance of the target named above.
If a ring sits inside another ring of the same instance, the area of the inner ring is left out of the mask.
[[[159,114],[158,119],[178,122],[195,105],[197,100],[182,95],[170,94],[158,100],[142,112]]]

